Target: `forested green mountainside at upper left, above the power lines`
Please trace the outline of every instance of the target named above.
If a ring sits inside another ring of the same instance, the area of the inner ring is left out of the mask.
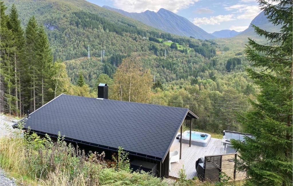
[[[88,45],[92,56],[100,56],[102,50],[153,53],[172,50],[151,38],[172,40],[180,45],[193,43],[194,47],[203,42],[164,32],[85,0],[7,0],[4,3],[8,6],[7,14],[12,4],[16,5],[23,27],[32,15],[45,27],[54,59],[86,55]]]

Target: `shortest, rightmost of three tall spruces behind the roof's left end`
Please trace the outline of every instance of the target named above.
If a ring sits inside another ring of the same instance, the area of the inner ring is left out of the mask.
[[[50,69],[53,65],[53,56],[51,55],[50,44],[48,41],[47,34],[44,30],[44,27],[39,27],[38,35],[37,35],[37,43],[35,45],[35,55],[36,60],[38,63],[38,76],[41,79],[41,105],[45,104],[45,88],[49,89],[50,87],[50,80],[52,74],[50,73]],[[48,94],[48,92],[47,92]],[[51,97],[48,95],[48,100],[51,100]]]

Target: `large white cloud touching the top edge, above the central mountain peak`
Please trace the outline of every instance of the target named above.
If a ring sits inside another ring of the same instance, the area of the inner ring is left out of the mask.
[[[160,8],[165,8],[174,13],[180,9],[188,8],[200,0],[113,0],[114,5],[127,12],[144,12],[146,10],[157,12]]]

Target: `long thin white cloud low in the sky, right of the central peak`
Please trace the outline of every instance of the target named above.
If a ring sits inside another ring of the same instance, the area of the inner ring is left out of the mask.
[[[221,22],[224,21],[231,21],[235,20],[234,15],[217,15],[211,16],[209,18],[193,18],[193,24],[195,25],[219,25]]]

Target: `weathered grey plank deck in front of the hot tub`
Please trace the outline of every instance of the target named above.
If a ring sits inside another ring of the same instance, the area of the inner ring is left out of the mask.
[[[170,151],[180,151],[180,143],[178,139],[174,140]],[[178,170],[184,165],[187,179],[192,179],[196,175],[195,162],[197,159],[208,155],[225,153],[226,152],[224,151],[224,145],[222,145],[221,139],[211,138],[211,141],[207,147],[199,147],[196,145],[191,145],[191,147],[189,147],[189,144],[182,143],[182,158],[180,159],[179,164],[177,162],[171,163],[171,171],[169,172],[169,176],[178,178]]]

